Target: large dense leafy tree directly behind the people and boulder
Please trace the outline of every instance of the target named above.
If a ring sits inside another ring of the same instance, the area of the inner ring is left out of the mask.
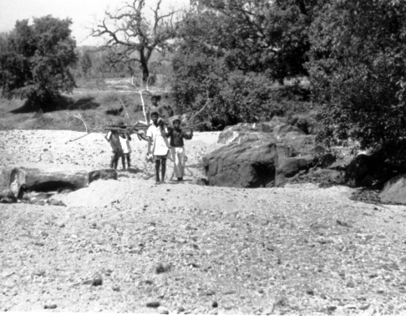
[[[206,112],[220,125],[281,114],[270,86],[307,75],[308,31],[320,1],[199,1],[173,59],[178,105],[196,111],[209,96]]]

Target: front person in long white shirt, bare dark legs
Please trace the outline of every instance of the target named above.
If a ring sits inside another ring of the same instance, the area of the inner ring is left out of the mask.
[[[164,120],[159,118],[156,110],[153,110],[150,115],[153,124],[148,128],[146,134],[148,137],[147,157],[150,156],[150,154],[153,155],[153,159],[155,160],[155,184],[159,184],[165,182],[166,158],[168,158],[169,153],[169,142],[166,137],[168,130],[166,129]]]

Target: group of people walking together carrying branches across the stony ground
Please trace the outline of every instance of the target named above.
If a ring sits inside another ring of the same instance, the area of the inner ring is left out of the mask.
[[[147,153],[148,159],[155,162],[155,184],[164,183],[166,175],[166,160],[171,154],[173,160],[173,172],[178,182],[183,181],[185,174],[185,142],[192,140],[193,129],[190,133],[180,128],[181,120],[179,117],[173,119],[173,127],[166,126],[164,115],[157,107],[157,98],[153,98],[153,107],[149,112],[148,130],[146,137],[148,140]],[[173,115],[172,113],[169,113]],[[113,155],[111,156],[110,167],[117,169],[118,159],[122,159],[123,169],[125,161],[127,167],[131,166],[131,147],[130,133],[111,130],[106,135],[106,140],[110,142]]]

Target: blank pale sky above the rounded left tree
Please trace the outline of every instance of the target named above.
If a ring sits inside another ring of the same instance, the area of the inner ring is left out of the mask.
[[[131,0],[130,0],[131,1]],[[52,15],[60,19],[72,19],[72,36],[77,45],[97,45],[100,39],[88,37],[86,27],[95,25],[107,8],[114,10],[123,5],[123,0],[0,0],[0,32],[11,31],[17,20]],[[153,6],[156,0],[146,0],[147,6]],[[169,4],[185,6],[189,0],[162,0],[162,9]],[[88,38],[87,38],[88,37]],[[87,38],[87,39],[86,39]]]

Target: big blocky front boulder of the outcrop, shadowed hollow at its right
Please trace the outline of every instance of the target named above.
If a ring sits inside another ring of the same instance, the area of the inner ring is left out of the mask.
[[[272,187],[277,165],[274,142],[249,138],[231,142],[203,157],[210,186]]]

